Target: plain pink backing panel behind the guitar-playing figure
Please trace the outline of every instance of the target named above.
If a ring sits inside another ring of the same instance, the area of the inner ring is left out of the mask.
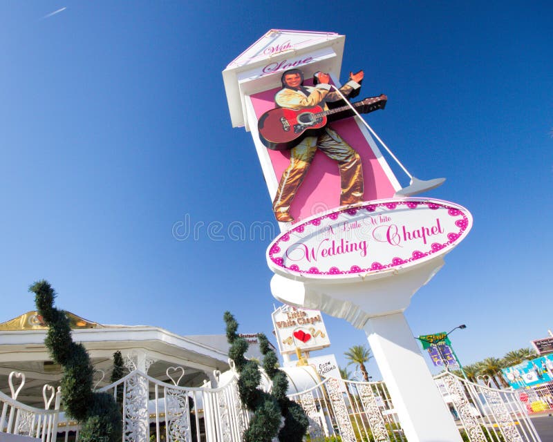
[[[306,85],[312,81],[305,81]],[[281,88],[266,90],[250,96],[256,117],[275,108],[274,96]],[[382,111],[379,111],[382,112]],[[332,122],[332,129],[339,133],[357,153],[362,162],[363,198],[362,200],[378,200],[391,198],[397,189],[391,171],[382,158],[377,160],[373,149],[368,144],[364,133],[353,117]],[[281,180],[285,169],[290,165],[290,151],[273,151],[268,149],[268,155],[277,182]],[[386,170],[384,167],[386,166]],[[341,177],[337,161],[331,160],[323,152],[317,151],[306,173],[301,186],[294,195],[290,205],[290,215],[294,221],[303,220],[317,213],[340,206]]]

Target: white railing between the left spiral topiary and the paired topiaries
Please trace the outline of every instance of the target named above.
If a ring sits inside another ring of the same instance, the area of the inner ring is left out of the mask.
[[[98,390],[121,403],[124,442],[150,441],[152,436],[156,442],[242,441],[248,419],[234,371],[221,375],[218,387],[180,387],[180,378],[167,374],[172,384],[134,370]]]

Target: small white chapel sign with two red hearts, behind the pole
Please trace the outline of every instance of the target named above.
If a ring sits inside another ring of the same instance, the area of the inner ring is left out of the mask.
[[[272,312],[274,333],[281,354],[299,349],[310,352],[330,346],[321,312],[283,305]]]

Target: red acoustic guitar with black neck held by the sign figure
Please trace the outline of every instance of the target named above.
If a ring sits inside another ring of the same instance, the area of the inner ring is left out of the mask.
[[[369,113],[384,109],[388,97],[382,94],[353,104],[359,113]],[[324,111],[321,106],[305,109],[276,108],[265,112],[257,122],[259,139],[273,151],[285,151],[298,144],[303,137],[316,135],[327,122],[355,115],[350,106]]]

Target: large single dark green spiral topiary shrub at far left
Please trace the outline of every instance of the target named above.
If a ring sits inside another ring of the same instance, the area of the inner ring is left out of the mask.
[[[30,288],[35,294],[38,314],[48,325],[44,343],[55,363],[64,367],[62,398],[66,413],[82,424],[81,441],[118,442],[122,438],[122,417],[113,396],[92,391],[93,367],[82,344],[71,337],[69,320],[63,310],[54,307],[54,289],[41,280]]]

